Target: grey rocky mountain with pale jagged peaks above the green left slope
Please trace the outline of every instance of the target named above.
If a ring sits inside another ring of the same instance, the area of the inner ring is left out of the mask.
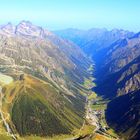
[[[3,71],[28,71],[46,75],[49,79],[59,79],[56,73],[65,75],[69,71],[75,73],[73,78],[81,82],[81,72],[88,76],[86,68],[89,61],[77,46],[30,22],[23,21],[16,27],[11,24],[2,27],[0,39]],[[81,72],[77,71],[78,67]]]

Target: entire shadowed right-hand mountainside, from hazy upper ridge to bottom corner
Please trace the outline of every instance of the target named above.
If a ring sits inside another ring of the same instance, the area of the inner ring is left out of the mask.
[[[96,89],[106,97],[116,97],[108,104],[106,118],[109,125],[125,139],[138,139],[140,132],[139,41],[136,34],[122,40],[118,47],[108,52],[104,57],[105,65],[100,67],[104,80],[98,81]]]

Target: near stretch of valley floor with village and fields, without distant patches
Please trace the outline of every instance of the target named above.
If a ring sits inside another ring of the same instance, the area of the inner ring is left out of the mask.
[[[86,125],[80,130],[81,132],[79,137],[71,140],[119,140],[118,135],[109,128],[105,121],[105,109],[107,102],[108,101],[104,101],[100,97],[88,99]],[[93,129],[91,129],[90,126],[94,126]],[[86,130],[87,133],[85,133],[84,127],[91,130]]]

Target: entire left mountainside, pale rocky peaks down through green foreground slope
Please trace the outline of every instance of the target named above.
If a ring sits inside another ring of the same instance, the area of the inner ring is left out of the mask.
[[[0,72],[14,79],[3,88],[12,131],[46,136],[80,128],[90,63],[78,46],[30,22],[1,26]]]

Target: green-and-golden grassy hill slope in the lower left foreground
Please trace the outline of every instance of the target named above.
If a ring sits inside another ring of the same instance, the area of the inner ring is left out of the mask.
[[[84,114],[82,96],[68,95],[49,83],[24,76],[3,88],[4,110],[14,133],[49,136],[80,128]],[[80,99],[81,98],[81,99]]]

